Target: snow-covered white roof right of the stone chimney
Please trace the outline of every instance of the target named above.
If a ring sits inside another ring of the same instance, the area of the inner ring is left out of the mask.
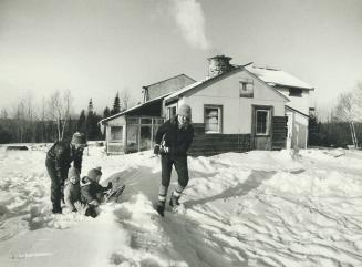
[[[298,78],[282,70],[258,68],[258,66],[247,66],[246,69],[271,86],[280,85],[280,86],[314,90],[312,85],[299,80]]]

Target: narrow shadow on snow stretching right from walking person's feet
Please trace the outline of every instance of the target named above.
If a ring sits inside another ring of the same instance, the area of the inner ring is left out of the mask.
[[[266,172],[266,171],[252,170],[251,174],[248,176],[245,183],[239,184],[232,188],[226,189],[218,195],[205,197],[201,199],[185,202],[184,205],[186,208],[190,208],[194,205],[198,205],[198,204],[206,204],[209,202],[224,199],[228,197],[247,195],[250,191],[258,188],[263,181],[271,178],[275,174],[276,174],[275,171]]]

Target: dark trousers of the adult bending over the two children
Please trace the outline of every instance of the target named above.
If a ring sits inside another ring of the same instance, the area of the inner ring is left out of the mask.
[[[53,212],[61,212],[62,186],[64,186],[64,181],[58,177],[54,164],[51,161],[46,160],[45,165],[51,179],[50,199],[53,204]]]

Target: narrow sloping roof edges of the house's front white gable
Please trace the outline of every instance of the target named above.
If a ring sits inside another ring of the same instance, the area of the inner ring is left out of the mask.
[[[234,74],[236,72],[239,72],[241,70],[249,70],[249,68],[247,68],[248,65],[252,64],[252,62],[245,64],[245,65],[234,65],[234,69],[231,71],[225,72],[220,75],[216,75],[216,76],[210,76],[210,78],[206,78],[205,80],[195,82],[190,85],[187,85],[174,93],[172,93],[170,95],[165,97],[166,102],[170,102],[173,101],[175,97],[178,97],[179,95],[189,92],[192,90],[195,90],[201,85],[209,85],[216,81],[219,81],[220,79],[227,78],[230,74]],[[258,80],[260,80],[261,82],[266,83],[265,81],[262,81],[259,76],[257,76],[256,74],[254,74],[252,72],[248,71],[251,75],[255,75]],[[275,91],[278,95],[280,95],[281,97],[283,97],[287,102],[289,102],[289,99],[287,96],[285,96],[282,93],[280,93],[278,90],[276,90],[275,88],[270,86],[268,83],[266,83],[272,91]]]

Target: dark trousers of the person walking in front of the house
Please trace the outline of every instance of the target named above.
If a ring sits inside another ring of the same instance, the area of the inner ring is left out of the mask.
[[[162,167],[162,185],[165,187],[169,186],[170,172],[175,166],[178,184],[184,188],[188,183],[188,167],[187,167],[187,156],[170,156],[162,155],[161,156],[161,167]]]

